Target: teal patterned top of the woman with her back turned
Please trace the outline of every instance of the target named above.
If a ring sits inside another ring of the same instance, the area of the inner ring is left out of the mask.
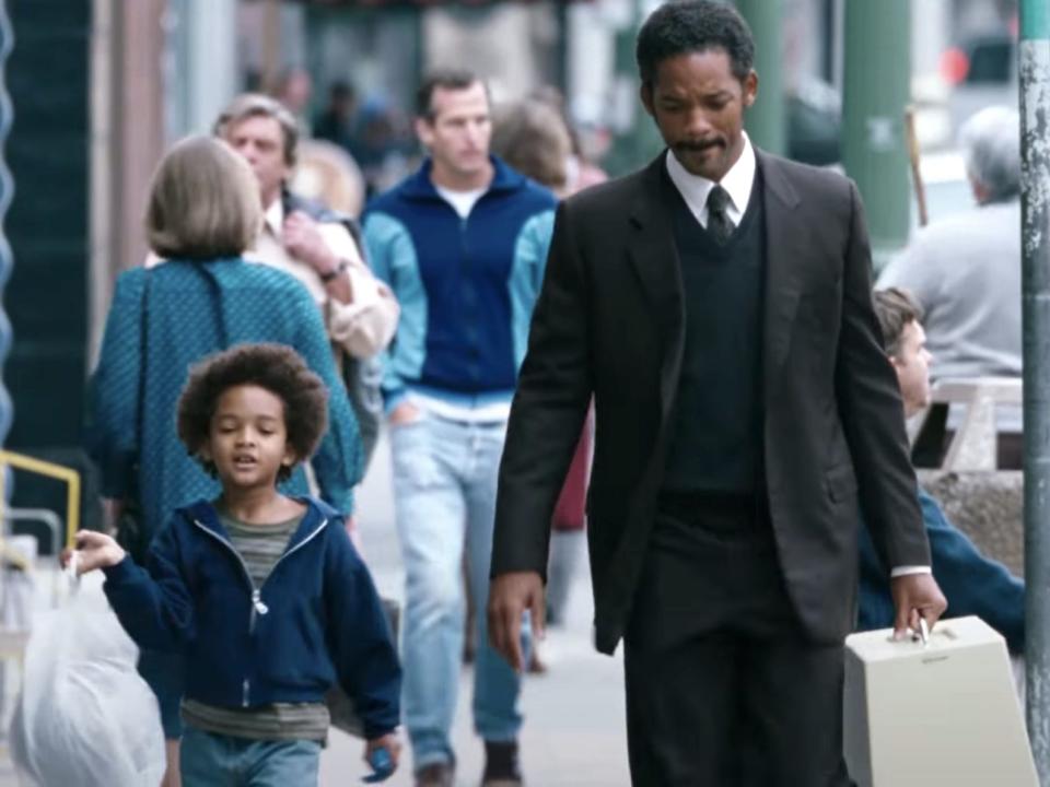
[[[126,500],[137,490],[147,535],[175,508],[220,491],[179,442],[176,404],[191,364],[242,342],[288,344],[325,381],[329,425],[312,465],[325,502],[352,513],[358,423],[310,294],[289,274],[242,259],[172,260],[117,279],[91,380],[86,442],[102,494]],[[306,494],[302,468],[283,489]]]

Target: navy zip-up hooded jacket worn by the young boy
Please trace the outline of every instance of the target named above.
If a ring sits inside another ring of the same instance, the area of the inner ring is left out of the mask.
[[[142,648],[186,655],[186,696],[221,707],[324,702],[336,682],[369,739],[398,724],[401,671],[378,595],[335,509],[312,497],[255,587],[214,507],[179,508],[147,568],[126,557],[103,586]]]

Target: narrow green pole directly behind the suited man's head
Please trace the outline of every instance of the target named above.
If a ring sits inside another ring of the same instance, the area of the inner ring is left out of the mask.
[[[783,155],[788,149],[783,2],[737,0],[736,7],[755,36],[755,71],[758,72],[758,101],[745,116],[747,133],[762,150]]]

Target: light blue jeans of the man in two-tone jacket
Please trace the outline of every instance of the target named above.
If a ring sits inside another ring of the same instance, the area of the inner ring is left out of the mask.
[[[464,549],[477,609],[475,730],[485,740],[510,741],[522,726],[521,680],[489,645],[485,613],[505,436],[505,421],[468,423],[425,410],[418,421],[390,428],[407,585],[402,713],[417,768],[454,759],[450,732],[463,658]]]

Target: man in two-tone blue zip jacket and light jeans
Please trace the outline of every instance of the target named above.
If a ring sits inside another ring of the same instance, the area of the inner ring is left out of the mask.
[[[365,211],[376,274],[401,304],[383,395],[407,575],[405,724],[417,784],[452,785],[463,651],[464,549],[483,610],[506,420],[553,226],[555,197],[490,155],[489,96],[474,74],[431,74],[416,132],[429,157]],[[521,784],[520,677],[477,616],[474,718],[482,785]]]

